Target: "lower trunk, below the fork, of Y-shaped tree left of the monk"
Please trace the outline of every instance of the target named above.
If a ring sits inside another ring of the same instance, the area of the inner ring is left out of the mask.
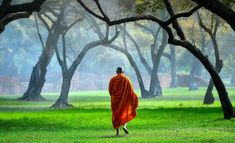
[[[63,81],[61,86],[60,97],[57,99],[55,104],[52,105],[54,108],[66,108],[73,107],[73,105],[68,103],[68,94],[70,89],[72,76],[63,73]]]

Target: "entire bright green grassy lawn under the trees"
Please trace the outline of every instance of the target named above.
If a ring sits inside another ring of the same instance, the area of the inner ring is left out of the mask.
[[[229,88],[235,101],[235,89]],[[217,101],[202,105],[205,89],[163,89],[164,96],[139,99],[129,135],[115,137],[110,98],[106,91],[72,92],[73,109],[50,109],[58,93],[45,93],[46,102],[16,101],[0,96],[0,143],[77,142],[235,142],[235,119],[223,120]],[[235,102],[233,102],[234,104]]]

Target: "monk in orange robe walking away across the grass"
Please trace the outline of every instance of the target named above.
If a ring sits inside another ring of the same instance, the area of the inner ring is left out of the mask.
[[[124,125],[124,132],[129,134],[126,125],[136,117],[138,98],[130,79],[124,75],[123,68],[118,67],[116,73],[117,75],[110,80],[109,94],[111,96],[113,128],[116,129],[118,136],[119,127],[122,125]]]

